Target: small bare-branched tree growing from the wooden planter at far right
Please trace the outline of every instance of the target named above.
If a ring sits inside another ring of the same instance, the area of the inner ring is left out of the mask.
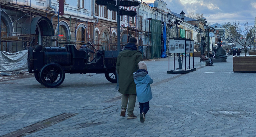
[[[222,27],[225,28],[226,34],[228,34],[234,41],[238,44],[244,46],[245,56],[247,53],[247,47],[253,42],[255,37],[255,28],[248,25],[248,22],[243,25],[239,21],[234,21],[232,23],[224,23]]]

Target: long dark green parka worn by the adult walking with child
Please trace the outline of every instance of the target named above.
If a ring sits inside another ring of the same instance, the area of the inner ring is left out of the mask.
[[[116,62],[116,70],[119,74],[119,92],[121,94],[136,94],[136,84],[133,73],[139,69],[139,62],[143,61],[142,54],[138,50],[123,50],[119,53]]]

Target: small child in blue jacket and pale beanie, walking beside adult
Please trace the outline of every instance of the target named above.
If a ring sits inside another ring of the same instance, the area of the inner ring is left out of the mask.
[[[137,100],[140,104],[140,122],[144,123],[145,115],[149,110],[149,101],[152,99],[150,84],[153,83],[144,61],[139,62],[139,69],[133,74],[133,79],[136,84]]]

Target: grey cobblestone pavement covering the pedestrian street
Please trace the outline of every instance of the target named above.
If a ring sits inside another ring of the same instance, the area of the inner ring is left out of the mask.
[[[58,88],[0,82],[0,136],[62,113],[77,115],[27,136],[256,136],[256,74],[233,73],[231,56],[206,67],[195,58],[188,74],[167,74],[168,58],[145,62],[154,83],[144,123],[120,116],[121,94],[104,74],[66,74]]]

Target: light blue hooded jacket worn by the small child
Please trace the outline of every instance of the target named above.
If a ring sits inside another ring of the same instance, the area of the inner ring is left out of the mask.
[[[153,97],[150,84],[153,83],[153,79],[151,79],[147,72],[137,72],[133,74],[133,79],[136,84],[137,100],[140,103],[151,100]]]

